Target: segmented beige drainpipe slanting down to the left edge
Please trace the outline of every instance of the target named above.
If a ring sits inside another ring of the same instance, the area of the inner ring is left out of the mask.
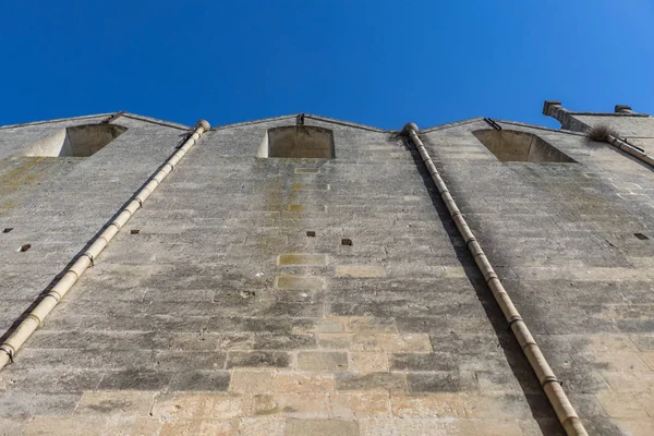
[[[120,229],[130,220],[130,218],[143,207],[143,202],[157,189],[157,186],[166,179],[173,170],[174,166],[184,157],[186,152],[193,147],[202,135],[209,130],[209,123],[201,120],[195,123],[195,129],[184,144],[170,156],[166,162],[148,179],[149,181],[143,186],[133,199],[124,206],[116,218],[111,220],[105,230],[90,241],[88,249],[77,257],[75,263],[65,271],[65,274],[55,283],[52,289],[41,299],[41,301],[27,314],[27,316],[19,324],[16,329],[7,338],[4,343],[0,346],[0,370],[9,362],[13,362],[13,356],[21,349],[23,343],[32,336],[32,334],[40,326],[45,317],[55,308],[55,306],[63,299],[66,292],[75,284],[84,271],[94,265],[98,255],[105,250],[109,242],[118,234]]]

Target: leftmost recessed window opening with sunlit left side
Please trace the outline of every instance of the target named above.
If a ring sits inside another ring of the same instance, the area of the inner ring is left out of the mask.
[[[24,156],[88,157],[120,136],[128,128],[116,124],[86,124],[61,129],[29,145]]]

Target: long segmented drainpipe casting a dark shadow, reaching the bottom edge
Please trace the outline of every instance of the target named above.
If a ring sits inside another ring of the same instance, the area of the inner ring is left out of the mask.
[[[443,202],[447,206],[450,216],[457,225],[457,229],[459,229],[459,233],[461,233],[461,237],[465,241],[468,250],[474,257],[474,262],[483,274],[486,283],[488,283],[488,287],[493,292],[493,296],[495,296],[495,301],[501,308],[504,316],[509,323],[511,331],[513,331],[518,343],[520,343],[520,347],[522,348],[522,352],[531,364],[532,370],[538,377],[538,382],[541,383],[543,390],[545,390],[545,395],[552,403],[556,415],[561,422],[561,425],[566,429],[566,433],[570,436],[588,436],[588,432],[583,427],[583,424],[577,415],[574,408],[561,388],[561,382],[556,378],[556,375],[549,367],[549,364],[545,360],[543,352],[529,331],[526,324],[524,324],[520,313],[513,305],[511,298],[499,281],[499,278],[488,262],[488,258],[482,250],[482,246],[470,230],[470,227],[468,226],[468,222],[465,222],[461,210],[459,210],[457,203],[450,195],[447,185],[440,178],[436,166],[432,161],[427,149],[417,136],[417,125],[414,123],[409,123],[404,125],[402,133],[408,134],[411,137],[411,141],[413,141],[413,144],[415,144],[417,147],[417,150],[420,152],[420,155],[425,162],[429,174],[432,175],[432,180],[434,180],[434,183],[436,183],[440,198],[443,198]]]

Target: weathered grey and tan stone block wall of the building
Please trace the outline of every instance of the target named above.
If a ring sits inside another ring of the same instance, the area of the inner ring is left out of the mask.
[[[23,156],[107,117],[0,129],[3,332],[189,131],[124,114],[90,157]],[[202,137],[0,371],[0,433],[564,434],[413,144],[306,116],[334,159],[257,157],[295,122]],[[653,169],[497,124],[572,162],[501,161],[483,119],[420,136],[589,433],[654,434]]]

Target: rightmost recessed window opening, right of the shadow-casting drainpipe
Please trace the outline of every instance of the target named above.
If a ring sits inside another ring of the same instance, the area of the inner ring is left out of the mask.
[[[502,162],[568,162],[568,155],[528,132],[514,130],[477,130],[472,132]]]

